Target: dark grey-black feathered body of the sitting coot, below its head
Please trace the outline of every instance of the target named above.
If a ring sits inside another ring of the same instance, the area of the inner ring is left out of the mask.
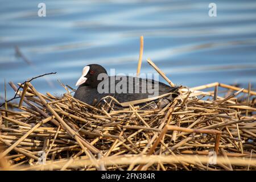
[[[93,104],[94,99],[99,101],[102,97],[113,96],[122,103],[160,96],[176,90],[177,88],[151,79],[110,76],[100,82],[98,88],[90,88],[86,85],[79,86],[74,97],[88,104]]]

